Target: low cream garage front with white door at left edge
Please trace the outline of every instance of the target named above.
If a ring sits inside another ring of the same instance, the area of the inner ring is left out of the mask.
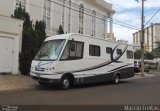
[[[0,73],[19,73],[23,21],[0,15]]]

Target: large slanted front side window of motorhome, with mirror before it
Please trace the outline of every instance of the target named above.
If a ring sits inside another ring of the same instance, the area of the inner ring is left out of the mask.
[[[69,41],[62,54],[61,60],[77,60],[83,58],[84,43],[78,41]]]

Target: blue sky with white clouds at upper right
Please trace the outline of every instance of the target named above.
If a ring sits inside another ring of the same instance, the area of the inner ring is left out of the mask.
[[[128,40],[133,43],[133,33],[141,28],[141,6],[142,0],[106,0],[113,4],[113,9],[116,13],[113,16],[114,25],[113,30],[117,40]],[[146,0],[144,2],[144,16],[145,24],[151,17],[160,9],[160,0]],[[118,20],[118,22],[117,22]],[[123,22],[123,23],[122,23]],[[160,23],[160,11],[156,16],[145,25],[149,26],[151,23]],[[120,26],[128,25],[131,28]]]

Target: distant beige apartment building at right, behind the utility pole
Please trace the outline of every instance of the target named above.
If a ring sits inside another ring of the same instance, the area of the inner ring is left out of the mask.
[[[160,41],[160,23],[151,24],[144,29],[144,50],[152,52],[156,48],[156,41]],[[141,31],[133,34],[133,44],[140,49]]]

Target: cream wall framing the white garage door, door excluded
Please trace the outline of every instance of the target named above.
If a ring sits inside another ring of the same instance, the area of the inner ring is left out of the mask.
[[[23,21],[0,15],[0,36],[13,39],[13,74],[19,73],[19,52],[22,45]],[[3,27],[2,27],[3,26]]]

